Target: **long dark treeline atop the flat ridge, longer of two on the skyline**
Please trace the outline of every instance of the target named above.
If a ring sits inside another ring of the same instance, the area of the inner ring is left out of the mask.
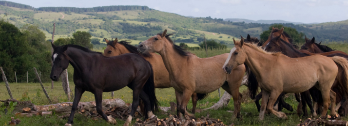
[[[52,11],[52,12],[108,12],[108,11],[134,11],[134,10],[142,10],[148,11],[150,10],[147,6],[102,6],[102,7],[93,7],[93,8],[77,8],[77,7],[39,7],[39,11]]]

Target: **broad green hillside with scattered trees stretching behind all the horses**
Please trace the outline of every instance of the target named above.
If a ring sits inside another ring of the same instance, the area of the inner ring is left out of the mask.
[[[258,37],[272,25],[254,23],[247,19],[230,19],[232,22],[228,22],[229,19],[223,20],[210,16],[192,18],[193,16],[180,16],[157,11],[147,6],[24,9],[24,4],[11,2],[11,4],[5,5],[0,5],[0,18],[8,20],[19,28],[25,24],[38,25],[46,33],[47,39],[52,36],[52,24],[55,22],[55,39],[70,37],[76,31],[87,31],[92,35],[92,38],[98,38],[101,43],[105,43],[102,42],[103,38],[117,37],[118,39],[132,40],[132,44],[135,45],[167,29],[168,33],[174,33],[172,38],[176,43],[199,44],[205,36],[206,39],[214,39],[219,43],[232,45],[232,38],[239,38],[240,35],[247,36],[247,34]],[[21,5],[19,7],[24,8],[7,7],[7,5]],[[243,23],[243,21],[245,22]],[[292,23],[283,25],[304,32],[309,37],[315,36],[318,41],[348,40],[348,20],[311,25],[294,25]]]

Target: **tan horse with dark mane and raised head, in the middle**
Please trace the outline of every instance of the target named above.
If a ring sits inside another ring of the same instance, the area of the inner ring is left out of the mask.
[[[175,89],[177,115],[180,113],[194,117],[185,110],[193,93],[208,94],[222,86],[233,97],[233,119],[240,117],[240,103],[242,94],[239,87],[242,82],[245,66],[240,65],[226,75],[220,70],[225,63],[228,53],[209,58],[199,58],[174,44],[166,34],[167,30],[148,40],[143,41],[138,50],[142,53],[157,52],[162,56],[171,84]]]

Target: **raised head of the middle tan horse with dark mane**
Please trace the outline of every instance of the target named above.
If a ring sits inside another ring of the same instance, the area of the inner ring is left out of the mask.
[[[140,43],[138,46],[138,51],[141,53],[160,52],[163,49],[164,44],[166,43],[166,37],[168,37],[169,35],[167,35],[167,30],[164,30],[163,33],[157,34]]]

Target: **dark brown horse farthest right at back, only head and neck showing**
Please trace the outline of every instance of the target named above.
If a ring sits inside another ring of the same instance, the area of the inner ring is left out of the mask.
[[[305,36],[306,43],[301,47],[301,50],[307,50],[311,53],[327,53],[327,54],[333,54],[333,53],[342,53],[344,55],[348,55],[347,53],[343,51],[333,50],[332,48],[320,45],[315,43],[315,38],[308,39],[307,36]],[[320,42],[321,43],[321,42]]]

